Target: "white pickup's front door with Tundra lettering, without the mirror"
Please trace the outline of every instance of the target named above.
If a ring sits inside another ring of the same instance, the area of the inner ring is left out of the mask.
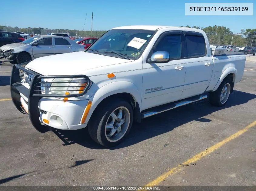
[[[148,57],[157,51],[166,51],[169,61],[147,63],[147,59],[143,59],[143,109],[180,100],[186,73],[183,39],[182,31],[165,32]]]

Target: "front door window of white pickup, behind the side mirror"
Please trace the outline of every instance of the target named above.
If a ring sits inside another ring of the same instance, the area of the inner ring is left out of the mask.
[[[170,59],[181,58],[181,35],[169,35],[164,37],[156,46],[156,51],[166,51]]]

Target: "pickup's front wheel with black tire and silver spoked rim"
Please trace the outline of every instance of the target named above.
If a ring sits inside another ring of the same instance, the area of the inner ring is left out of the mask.
[[[131,104],[122,99],[104,101],[89,121],[91,138],[104,147],[113,147],[124,140],[133,121]]]

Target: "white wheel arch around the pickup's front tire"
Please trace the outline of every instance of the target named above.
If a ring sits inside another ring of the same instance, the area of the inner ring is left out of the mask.
[[[95,111],[97,111],[98,108],[100,108],[101,104],[103,104],[105,101],[115,98],[121,98],[130,103],[134,110],[134,120],[140,122],[141,94],[139,94],[138,88],[135,86],[135,84],[131,82],[117,81],[99,88],[91,96],[89,100],[91,102],[90,110],[88,111],[88,114],[86,114],[87,117],[85,119],[85,123],[89,122],[91,116],[94,114]],[[83,113],[83,116],[85,115],[85,112],[86,108]],[[82,120],[80,123],[82,123]]]

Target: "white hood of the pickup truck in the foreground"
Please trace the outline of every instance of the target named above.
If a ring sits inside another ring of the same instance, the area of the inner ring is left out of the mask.
[[[26,68],[41,75],[75,75],[79,74],[80,71],[92,68],[131,61],[133,60],[87,52],[75,52],[37,58],[29,62]]]

